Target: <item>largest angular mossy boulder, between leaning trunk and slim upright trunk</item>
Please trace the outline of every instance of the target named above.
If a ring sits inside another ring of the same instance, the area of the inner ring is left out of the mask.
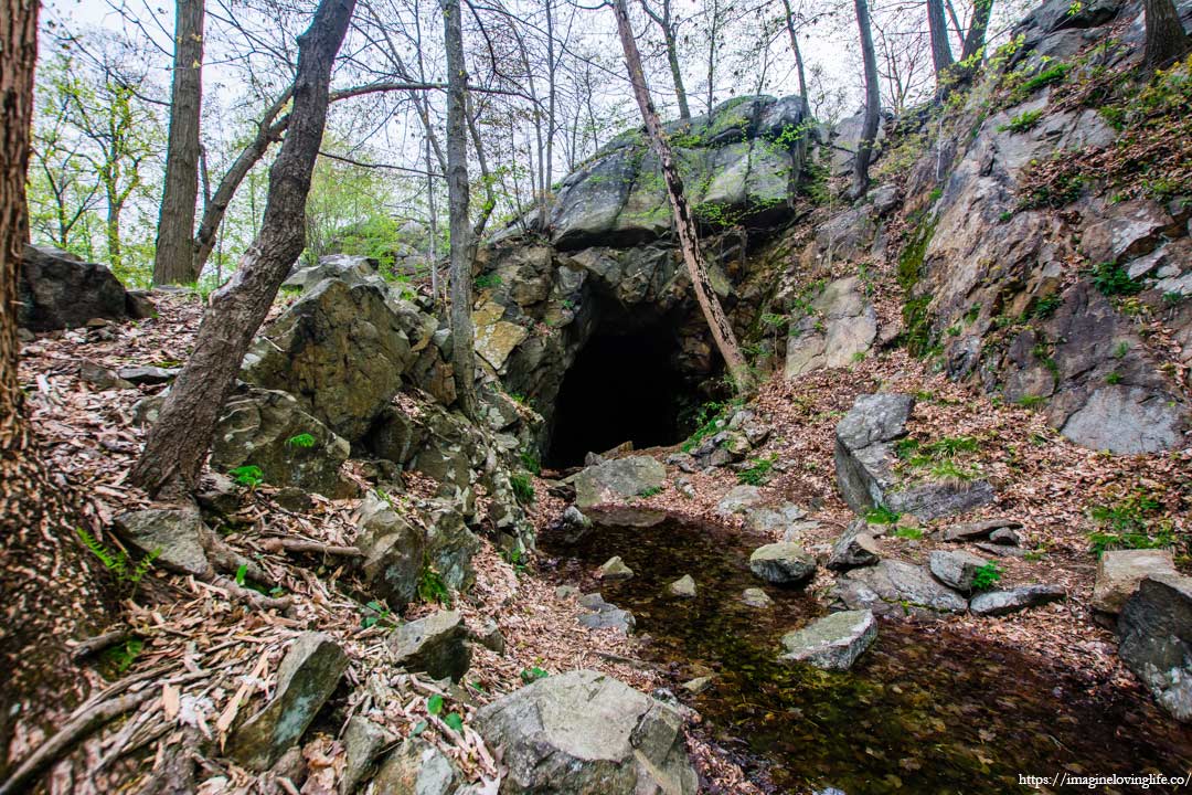
[[[288,392],[355,442],[401,389],[436,328],[434,318],[377,284],[324,279],[265,329],[241,374],[249,384]]]

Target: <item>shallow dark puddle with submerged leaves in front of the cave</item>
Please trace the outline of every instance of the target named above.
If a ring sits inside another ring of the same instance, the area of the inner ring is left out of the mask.
[[[1019,775],[1181,776],[1192,768],[1192,731],[1143,694],[1088,692],[1030,650],[938,626],[881,622],[848,673],[777,663],[780,638],[821,608],[769,585],[770,609],[741,603],[744,589],[764,585],[747,566],[763,542],[666,521],[597,527],[569,546],[547,535],[541,546],[559,582],[600,590],[637,616],[637,634],[652,639],[642,654],[676,684],[715,673],[712,688],[688,698],[704,718],[701,731],[768,791],[977,795],[1031,791]],[[596,583],[592,570],[611,555],[635,576]],[[683,574],[695,578],[696,597],[665,595]]]

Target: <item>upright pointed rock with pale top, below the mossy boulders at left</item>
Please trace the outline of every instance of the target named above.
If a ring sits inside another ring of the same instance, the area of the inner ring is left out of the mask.
[[[368,492],[360,503],[356,547],[364,553],[361,572],[368,592],[391,610],[401,610],[418,595],[426,557],[426,534],[397,515],[389,502]]]

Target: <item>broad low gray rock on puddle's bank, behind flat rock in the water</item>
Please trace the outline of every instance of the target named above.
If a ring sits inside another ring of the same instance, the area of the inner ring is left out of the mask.
[[[963,613],[968,600],[937,582],[925,567],[901,560],[855,569],[837,579],[837,596],[850,610],[883,616],[938,617]]]

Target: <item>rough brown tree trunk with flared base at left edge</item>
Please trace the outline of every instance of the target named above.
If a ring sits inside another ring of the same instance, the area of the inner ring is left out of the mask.
[[[76,492],[38,456],[17,373],[37,8],[37,0],[0,0],[0,781],[18,725],[44,729],[83,695],[66,641],[114,608],[105,572],[76,536],[91,527]]]

